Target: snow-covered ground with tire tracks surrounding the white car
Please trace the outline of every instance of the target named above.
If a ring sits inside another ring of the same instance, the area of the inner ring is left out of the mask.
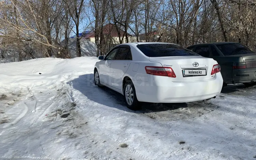
[[[256,86],[134,112],[119,93],[94,85],[96,61],[0,64],[0,159],[256,158]]]

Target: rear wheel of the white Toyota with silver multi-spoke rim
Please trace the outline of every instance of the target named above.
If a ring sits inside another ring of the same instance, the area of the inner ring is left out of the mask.
[[[127,81],[124,87],[124,100],[126,103],[127,108],[131,110],[140,110],[141,109],[141,102],[138,101],[136,96],[135,87],[132,81]]]

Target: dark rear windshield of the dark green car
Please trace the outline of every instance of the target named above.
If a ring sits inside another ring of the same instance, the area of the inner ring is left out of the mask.
[[[216,45],[218,49],[224,54],[224,55],[237,55],[237,54],[248,54],[248,53],[254,53],[249,48],[245,47],[242,44],[234,43],[234,44],[222,44],[222,45]]]

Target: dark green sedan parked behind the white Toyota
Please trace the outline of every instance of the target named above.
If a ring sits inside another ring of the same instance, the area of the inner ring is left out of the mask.
[[[240,43],[216,42],[187,47],[221,65],[224,86],[230,83],[256,84],[256,53]]]

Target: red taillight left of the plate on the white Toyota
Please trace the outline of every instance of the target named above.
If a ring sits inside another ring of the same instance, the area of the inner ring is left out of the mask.
[[[167,76],[175,78],[176,75],[171,67],[146,66],[146,73],[155,76]]]

